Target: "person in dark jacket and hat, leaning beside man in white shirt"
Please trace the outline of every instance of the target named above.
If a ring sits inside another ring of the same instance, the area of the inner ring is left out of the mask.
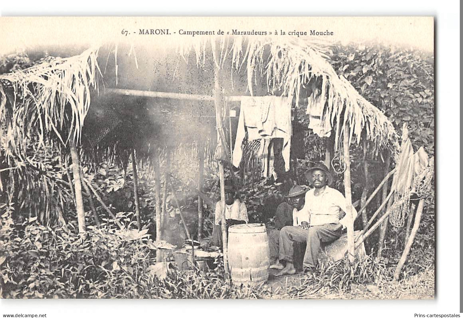
[[[294,216],[297,211],[304,206],[304,194],[308,189],[301,186],[293,186],[288,195],[285,195],[286,202],[282,202],[277,208],[275,217],[271,224],[267,226],[270,247],[270,268],[282,269],[283,265],[278,261],[278,243],[280,240],[280,230],[284,226],[294,224]]]

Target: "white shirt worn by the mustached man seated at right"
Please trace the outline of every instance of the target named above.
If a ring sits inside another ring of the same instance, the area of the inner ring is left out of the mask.
[[[345,228],[350,222],[351,216],[347,213],[346,199],[344,195],[338,190],[326,186],[325,191],[315,196],[315,188],[307,191],[306,202],[302,209],[298,212],[300,215],[304,215],[303,218],[310,218],[310,226],[329,224],[329,223],[341,223]],[[346,212],[344,218],[339,220],[339,211],[343,210]],[[352,217],[357,217],[357,210],[351,206]]]

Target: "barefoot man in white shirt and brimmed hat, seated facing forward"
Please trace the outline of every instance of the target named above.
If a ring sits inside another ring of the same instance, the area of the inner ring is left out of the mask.
[[[307,273],[312,273],[317,266],[320,244],[338,239],[350,220],[350,215],[346,215],[344,195],[329,187],[333,177],[328,168],[319,163],[305,175],[313,189],[307,191],[304,207],[298,212],[299,226],[285,226],[280,232],[279,259],[286,261],[286,266],[277,276],[296,272],[293,241],[307,242],[303,267]],[[353,206],[351,211],[355,219],[357,211]]]

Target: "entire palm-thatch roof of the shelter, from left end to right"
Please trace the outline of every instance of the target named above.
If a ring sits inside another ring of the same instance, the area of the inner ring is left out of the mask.
[[[344,126],[348,125],[350,142],[359,143],[366,138],[375,154],[381,154],[382,150],[396,152],[398,149],[398,138],[392,123],[365,100],[349,81],[336,74],[329,63],[330,46],[324,43],[292,37],[194,37],[180,45],[163,42],[154,48],[139,49],[131,45],[126,49],[118,49],[117,45],[93,47],[76,56],[51,58],[29,69],[0,75],[0,142],[4,156],[12,161],[8,168],[16,171],[24,169],[23,164],[13,162],[27,163],[27,154],[34,153],[38,147],[50,149],[53,144],[57,149],[65,150],[73,140],[77,143],[84,141],[85,123],[92,123],[93,118],[92,125],[101,124],[100,118],[94,114],[88,118],[92,109],[98,113],[97,106],[104,104],[100,102],[100,97],[105,89],[99,87],[128,88],[126,86],[135,85],[143,80],[144,69],[152,69],[150,63],[153,61],[160,67],[164,67],[164,62],[168,61],[171,69],[151,74],[153,78],[156,77],[155,87],[138,89],[173,89],[188,94],[211,94],[216,68],[231,79],[229,94],[292,95],[297,104],[300,99],[316,94],[307,88],[309,83],[316,82],[325,96],[323,117],[329,118],[336,127],[336,145],[344,137]],[[167,102],[163,100],[162,103]],[[138,119],[153,117],[145,113],[150,105],[137,104],[144,111],[138,114]],[[189,106],[204,108],[204,105],[192,103]],[[175,109],[184,109],[184,106],[182,104]],[[132,108],[135,109],[131,107],[130,111],[134,112]],[[100,115],[106,116],[108,109],[102,108]],[[130,117],[127,116],[127,109],[124,111],[119,112],[119,117]],[[189,119],[189,123],[192,122],[194,120]],[[131,123],[114,135],[115,138],[106,140],[106,146],[116,142],[121,145],[120,152],[125,154],[128,147],[152,150],[153,134],[159,131],[154,129],[151,134],[134,132],[138,126],[161,125],[162,120],[156,125],[151,124]],[[189,129],[193,130],[192,127]],[[190,131],[181,136],[179,143],[185,144],[185,138],[191,138]],[[90,135],[93,133],[91,131]],[[162,134],[156,136],[154,139],[158,141],[165,137]],[[143,137],[146,142],[138,142]],[[171,137],[172,140],[175,137]],[[197,144],[195,140],[192,142]],[[94,146],[93,143],[91,145]],[[209,148],[213,150],[210,145]],[[143,151],[140,153],[143,158]],[[146,151],[146,154],[149,153]],[[38,167],[34,162],[31,166]],[[26,171],[23,172],[22,176],[26,177]]]

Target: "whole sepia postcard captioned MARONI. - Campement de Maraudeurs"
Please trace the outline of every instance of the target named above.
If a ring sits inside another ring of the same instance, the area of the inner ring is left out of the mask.
[[[435,299],[434,27],[0,18],[0,297]]]

